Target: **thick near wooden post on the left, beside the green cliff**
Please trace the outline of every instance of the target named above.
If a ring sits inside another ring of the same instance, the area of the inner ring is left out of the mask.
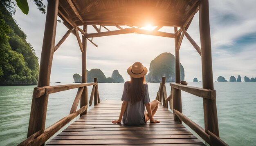
[[[52,58],[54,54],[54,44],[56,35],[56,23],[59,0],[49,0],[47,4],[47,14],[45,22],[45,33],[40,60],[40,70],[38,77],[38,87],[49,86],[52,69]],[[31,112],[29,117],[29,128],[27,137],[37,131],[45,130],[45,118],[48,104],[48,95],[40,98],[32,98]]]

